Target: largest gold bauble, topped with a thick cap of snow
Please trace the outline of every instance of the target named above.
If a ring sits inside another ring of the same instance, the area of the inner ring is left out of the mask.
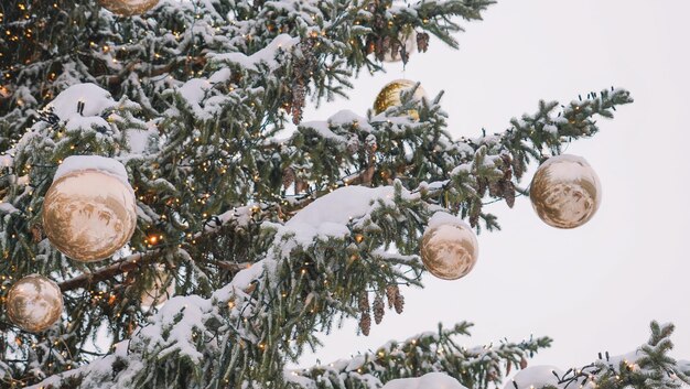
[[[112,256],[136,226],[134,192],[104,171],[72,171],[55,180],[45,195],[45,235],[72,259],[91,262]]]

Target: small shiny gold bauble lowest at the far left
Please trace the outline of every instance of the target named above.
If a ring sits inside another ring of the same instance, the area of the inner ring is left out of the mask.
[[[31,274],[10,288],[6,306],[12,323],[37,333],[57,322],[63,312],[63,295],[55,282]]]

